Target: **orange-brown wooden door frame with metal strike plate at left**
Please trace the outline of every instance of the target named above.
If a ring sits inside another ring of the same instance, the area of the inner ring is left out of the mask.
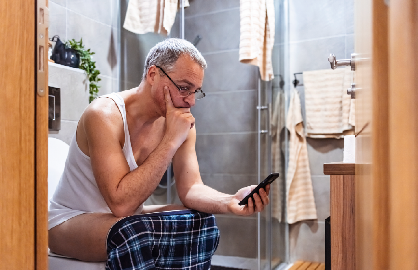
[[[47,53],[37,57],[38,11],[36,1],[0,5],[1,269],[47,269],[48,96],[36,94],[36,72],[42,63],[47,74]],[[43,84],[47,91],[47,80]]]

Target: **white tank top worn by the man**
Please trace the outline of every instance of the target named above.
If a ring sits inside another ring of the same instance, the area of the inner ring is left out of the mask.
[[[138,165],[132,153],[128,123],[126,122],[125,102],[117,93],[111,93],[99,98],[102,97],[111,98],[122,114],[123,128],[125,130],[125,143],[122,150],[132,171]],[[48,230],[80,214],[111,213],[97,187],[96,179],[93,176],[93,169],[91,168],[90,157],[86,156],[77,145],[76,133],[74,133],[71,139],[64,172],[50,200]],[[143,204],[135,211],[135,215],[140,214],[142,209]]]

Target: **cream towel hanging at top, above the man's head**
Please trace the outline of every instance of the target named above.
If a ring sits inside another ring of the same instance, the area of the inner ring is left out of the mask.
[[[178,6],[179,0],[130,0],[123,28],[136,34],[168,35]],[[184,0],[184,6],[189,6],[188,0]]]

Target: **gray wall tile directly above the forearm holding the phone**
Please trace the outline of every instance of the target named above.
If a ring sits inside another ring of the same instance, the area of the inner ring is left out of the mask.
[[[203,183],[217,191],[235,194],[243,187],[257,185],[256,175],[201,174]]]

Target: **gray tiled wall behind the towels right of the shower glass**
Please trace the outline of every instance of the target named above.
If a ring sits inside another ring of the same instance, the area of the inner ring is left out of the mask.
[[[291,80],[295,72],[330,68],[330,53],[343,59],[352,52],[354,0],[289,1]],[[300,81],[303,83],[303,79]],[[303,87],[298,87],[298,91],[305,115]],[[307,138],[307,148],[318,221],[290,225],[290,261],[324,262],[324,219],[330,215],[330,180],[323,174],[323,164],[343,160],[344,141]]]

